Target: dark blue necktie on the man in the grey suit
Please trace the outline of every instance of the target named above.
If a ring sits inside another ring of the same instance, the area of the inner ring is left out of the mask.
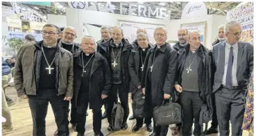
[[[230,47],[230,56],[228,57],[228,69],[225,77],[225,86],[230,88],[232,86],[232,65],[233,65],[233,47]]]

